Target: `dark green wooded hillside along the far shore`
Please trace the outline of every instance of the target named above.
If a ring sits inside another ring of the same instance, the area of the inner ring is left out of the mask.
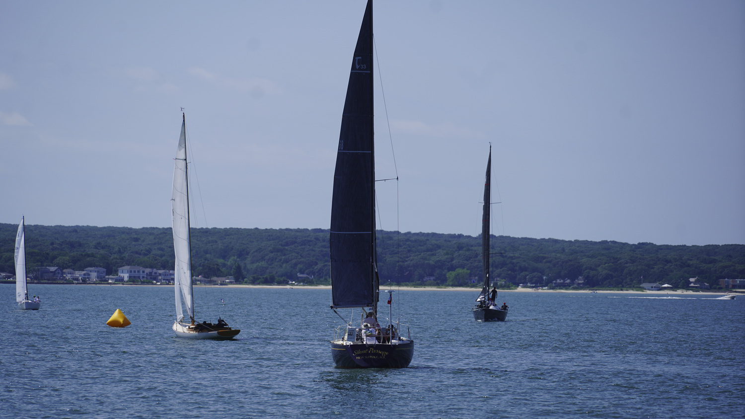
[[[15,272],[18,226],[0,223],[0,272]],[[77,271],[121,266],[174,269],[171,228],[26,226],[26,260]],[[586,287],[677,287],[688,278],[716,286],[745,278],[745,245],[668,246],[652,243],[492,237],[492,281],[549,285],[581,279]],[[194,275],[236,282],[329,284],[329,230],[322,228],[192,228]],[[481,240],[462,234],[378,231],[381,284],[477,286]],[[298,278],[297,274],[308,275]],[[312,279],[311,279],[312,277]]]

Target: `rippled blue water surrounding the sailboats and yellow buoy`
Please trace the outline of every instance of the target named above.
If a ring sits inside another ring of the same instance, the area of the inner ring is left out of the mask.
[[[399,292],[410,368],[349,371],[329,290],[195,289],[198,320],[241,328],[227,342],[175,338],[171,287],[30,292],[41,310],[0,284],[3,417],[745,417],[745,296],[503,292],[484,324],[475,291]]]

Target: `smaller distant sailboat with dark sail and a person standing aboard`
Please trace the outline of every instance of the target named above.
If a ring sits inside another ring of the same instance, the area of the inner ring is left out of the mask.
[[[486,181],[484,182],[484,215],[481,217],[481,258],[484,260],[484,287],[476,298],[473,307],[473,318],[478,322],[504,322],[507,319],[507,305],[497,306],[497,290],[489,293],[489,235],[490,213],[492,207],[492,147],[489,146],[489,161],[486,163]]]

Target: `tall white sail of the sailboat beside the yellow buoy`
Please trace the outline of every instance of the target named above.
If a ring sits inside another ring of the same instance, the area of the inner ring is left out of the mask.
[[[194,317],[194,299],[191,296],[191,243],[188,222],[188,180],[186,173],[186,121],[181,125],[181,137],[174,164],[174,188],[171,194],[173,211],[174,252],[176,266],[174,284],[176,292],[177,321],[183,319],[181,301],[186,304],[189,319]]]

